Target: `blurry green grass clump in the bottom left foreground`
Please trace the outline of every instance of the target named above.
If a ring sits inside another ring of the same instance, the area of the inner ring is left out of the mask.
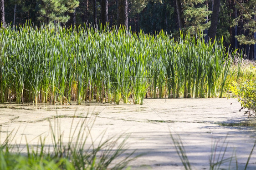
[[[56,117],[54,123],[50,122],[52,145],[46,145],[46,137],[40,135],[37,136],[37,145],[30,145],[26,140],[27,143],[23,146],[21,142],[14,141],[17,131],[12,130],[6,138],[1,136],[3,134],[0,131],[0,137],[4,139],[0,140],[0,169],[123,170],[132,160],[140,156],[132,156],[135,150],[128,151],[126,147],[128,137],[124,135],[103,140],[104,132],[102,132],[98,136],[100,141],[96,145],[95,139],[90,139],[92,138],[93,120],[79,118],[80,120],[75,125],[75,115],[69,132],[69,140],[64,141],[60,118]],[[88,126],[90,123],[92,125]]]

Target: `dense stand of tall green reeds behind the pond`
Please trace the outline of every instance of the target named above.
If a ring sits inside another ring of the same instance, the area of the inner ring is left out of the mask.
[[[25,25],[1,28],[0,36],[2,103],[222,97],[234,55],[200,33],[174,40],[164,31]]]

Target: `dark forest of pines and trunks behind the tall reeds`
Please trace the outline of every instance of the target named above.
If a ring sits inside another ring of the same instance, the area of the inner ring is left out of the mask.
[[[205,39],[224,38],[230,50],[256,60],[256,0],[0,0],[2,26],[124,25],[132,32],[164,30],[174,38],[179,30]]]

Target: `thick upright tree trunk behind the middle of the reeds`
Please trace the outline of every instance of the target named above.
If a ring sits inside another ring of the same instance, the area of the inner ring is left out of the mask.
[[[118,28],[123,25],[128,30],[128,2],[118,0]]]

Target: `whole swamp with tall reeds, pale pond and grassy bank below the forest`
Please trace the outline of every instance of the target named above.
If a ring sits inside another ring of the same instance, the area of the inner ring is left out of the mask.
[[[179,34],[0,29],[0,169],[256,169],[255,62]]]

